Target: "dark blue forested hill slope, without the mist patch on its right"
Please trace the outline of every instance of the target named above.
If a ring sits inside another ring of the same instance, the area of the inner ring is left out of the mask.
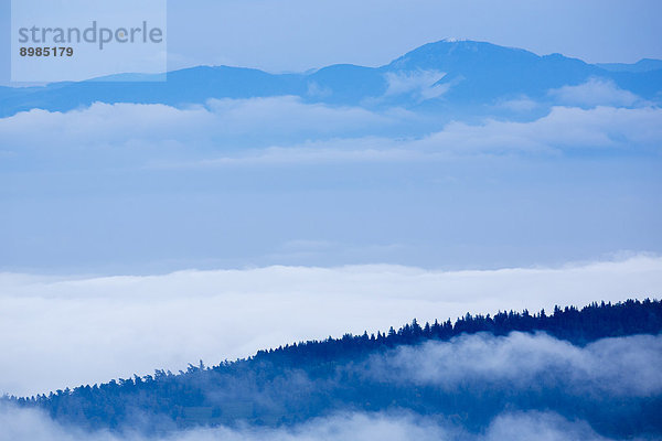
[[[338,411],[398,409],[439,418],[456,416],[465,427],[480,431],[508,408],[551,410],[570,419],[580,418],[606,435],[662,434],[662,419],[658,418],[662,396],[577,395],[564,386],[574,374],[556,368],[542,370],[540,378],[533,378],[534,384],[524,389],[488,379],[487,384],[472,380],[449,390],[434,384],[401,384],[399,379],[406,378],[395,380],[388,372],[375,374],[371,367],[375,359],[389,359],[402,348],[425,348],[426,344],[456,342],[458,336],[476,333],[480,333],[480,338],[493,338],[490,335],[513,331],[545,332],[575,345],[563,344],[566,349],[605,337],[656,335],[662,331],[662,303],[629,300],[596,303],[581,310],[557,308],[552,314],[467,314],[455,324],[446,321],[424,326],[414,321],[386,334],[346,334],[342,338],[286,345],[214,367],[205,367],[201,362],[178,375],[157,370],[146,377],[57,390],[49,396],[8,399],[44,409],[67,424],[118,431],[129,428],[148,433],[200,424],[273,427]]]

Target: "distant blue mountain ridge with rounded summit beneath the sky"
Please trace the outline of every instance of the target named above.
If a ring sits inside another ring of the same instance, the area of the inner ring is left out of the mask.
[[[270,74],[231,66],[170,72],[167,82],[114,80],[55,83],[44,87],[0,88],[0,116],[42,108],[66,111],[103,103],[182,106],[210,98],[292,95],[330,105],[455,108],[527,96],[544,98],[552,88],[605,78],[645,99],[662,93],[662,61],[587,64],[560,54],[538,56],[521,49],[476,41],[425,44],[381,67],[338,64],[306,74]],[[426,83],[426,80],[428,83]],[[399,83],[398,83],[399,82]],[[393,92],[393,85],[409,85]],[[421,89],[437,93],[421,94]]]

